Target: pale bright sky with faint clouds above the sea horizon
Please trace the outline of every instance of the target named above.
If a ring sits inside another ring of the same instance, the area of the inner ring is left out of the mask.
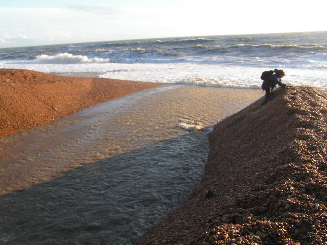
[[[0,0],[0,48],[327,30],[325,0]]]

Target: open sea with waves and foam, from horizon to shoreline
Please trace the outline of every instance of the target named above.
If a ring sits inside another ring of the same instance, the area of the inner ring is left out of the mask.
[[[327,89],[327,31],[105,41],[0,49],[0,68],[219,87],[260,88],[264,70]]]

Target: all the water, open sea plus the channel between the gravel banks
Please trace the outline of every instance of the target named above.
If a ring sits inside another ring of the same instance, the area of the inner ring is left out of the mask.
[[[0,158],[0,243],[133,244],[199,185],[207,134],[261,99],[264,70],[284,69],[287,85],[327,88],[326,35],[0,50],[1,68],[165,83],[0,137],[10,153]]]

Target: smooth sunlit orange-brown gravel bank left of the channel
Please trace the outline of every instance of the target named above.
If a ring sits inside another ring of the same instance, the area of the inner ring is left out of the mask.
[[[0,69],[0,137],[159,84]]]

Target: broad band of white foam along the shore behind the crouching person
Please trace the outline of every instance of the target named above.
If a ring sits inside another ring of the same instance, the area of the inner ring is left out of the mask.
[[[260,88],[261,72],[282,68],[286,75],[282,79],[287,85],[313,86],[327,90],[324,69],[285,67],[225,66],[223,64],[121,64],[121,63],[66,63],[42,64],[34,62],[6,63],[6,68],[30,69],[46,73],[92,73],[101,78],[134,80],[155,83],[193,84],[203,86]]]

